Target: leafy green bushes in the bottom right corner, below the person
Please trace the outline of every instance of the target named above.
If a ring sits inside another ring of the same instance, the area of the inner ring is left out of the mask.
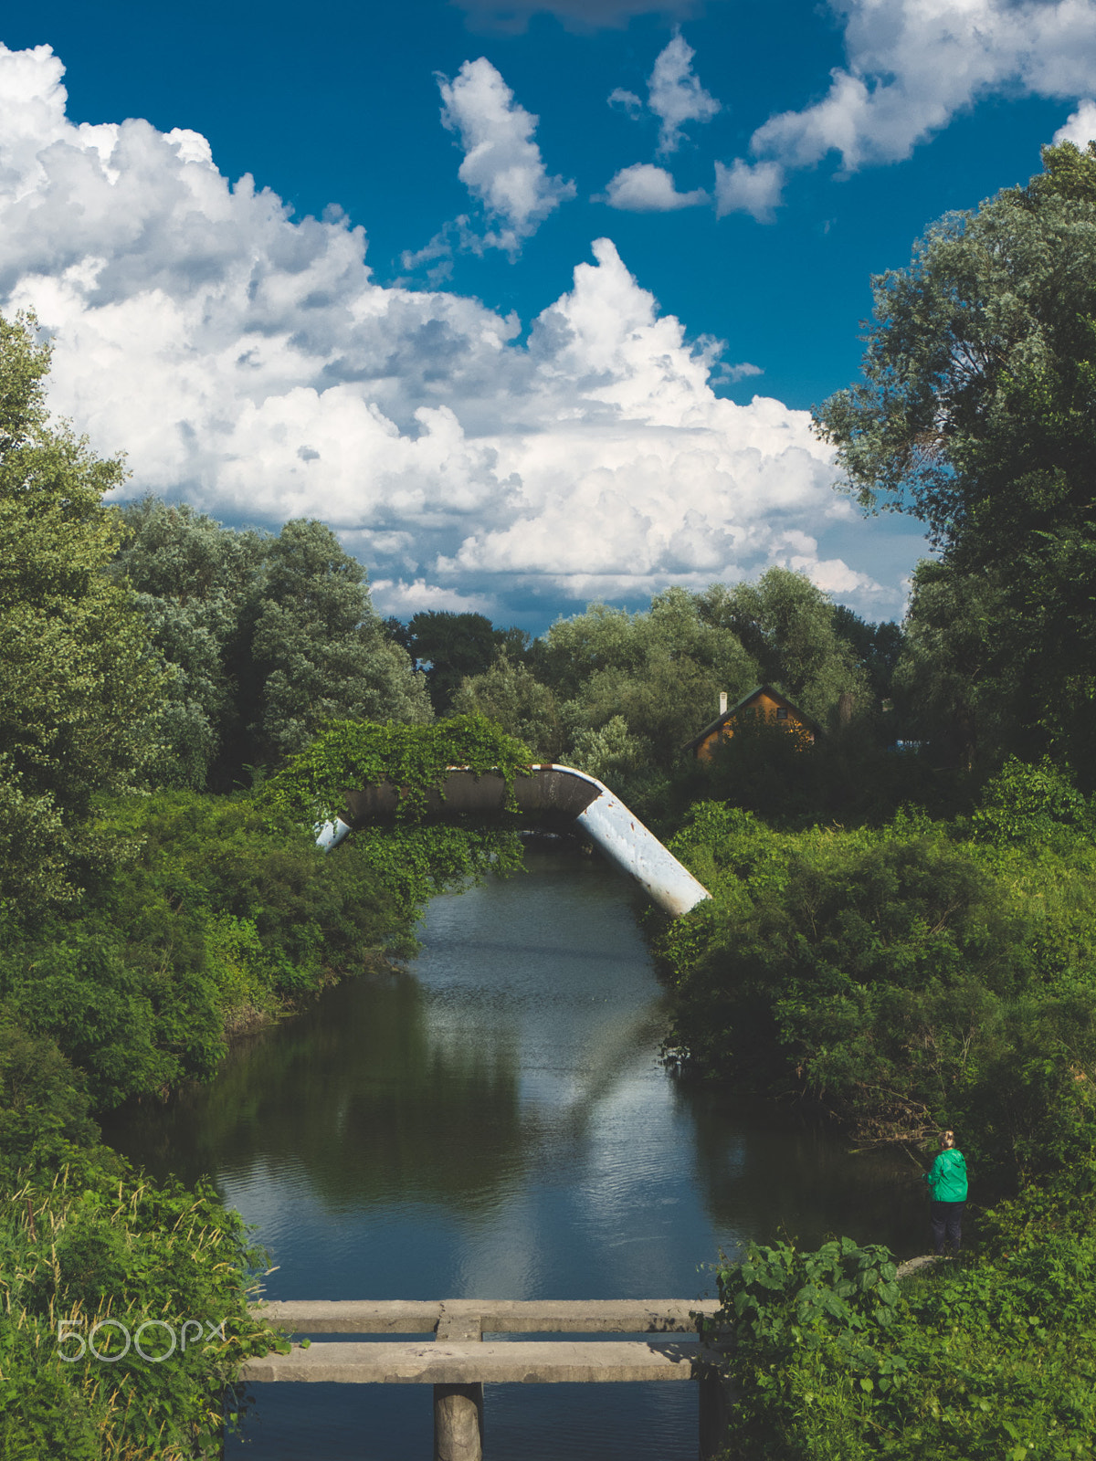
[[[1092,1153],[989,1214],[988,1252],[894,1283],[886,1249],[751,1248],[718,1274],[732,1455],[1073,1461],[1096,1433]]]

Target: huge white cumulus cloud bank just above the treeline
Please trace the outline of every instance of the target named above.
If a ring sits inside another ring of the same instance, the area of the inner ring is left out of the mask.
[[[38,311],[53,408],[129,453],[134,494],[321,517],[384,612],[551,611],[769,562],[878,592],[820,546],[855,514],[807,413],[716,396],[718,346],[690,348],[609,240],[517,343],[475,300],[378,285],[361,228],[231,186],[193,131],[72,124],[61,76],[48,47],[0,47],[0,307]],[[511,226],[544,206],[484,175]]]

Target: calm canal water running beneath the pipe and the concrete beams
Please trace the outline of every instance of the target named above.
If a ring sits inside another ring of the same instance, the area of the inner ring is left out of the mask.
[[[909,1163],[682,1086],[634,888],[573,844],[431,901],[406,972],[348,982],[218,1080],[105,1135],[208,1173],[266,1245],[270,1299],[713,1293],[750,1239],[924,1248]],[[251,1461],[421,1461],[421,1385],[256,1386]],[[492,1461],[693,1461],[694,1385],[488,1386]]]

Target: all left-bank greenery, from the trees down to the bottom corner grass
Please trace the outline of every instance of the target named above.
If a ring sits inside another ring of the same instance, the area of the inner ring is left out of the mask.
[[[281,1343],[247,1308],[263,1255],[96,1116],[208,1080],[235,1030],[414,947],[438,887],[513,865],[507,828],[415,812],[438,766],[529,752],[425,725],[320,523],[105,506],[120,463],[50,422],[47,370],[34,321],[0,321],[0,1457],[183,1461],[221,1454],[225,1385]],[[405,815],[326,858],[323,754],[373,720]]]

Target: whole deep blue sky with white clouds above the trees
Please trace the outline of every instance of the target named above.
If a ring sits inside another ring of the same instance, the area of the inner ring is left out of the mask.
[[[0,307],[130,491],[530,628],[770,562],[899,614],[916,524],[802,411],[872,272],[1096,130],[1093,0],[44,0],[0,41]]]

